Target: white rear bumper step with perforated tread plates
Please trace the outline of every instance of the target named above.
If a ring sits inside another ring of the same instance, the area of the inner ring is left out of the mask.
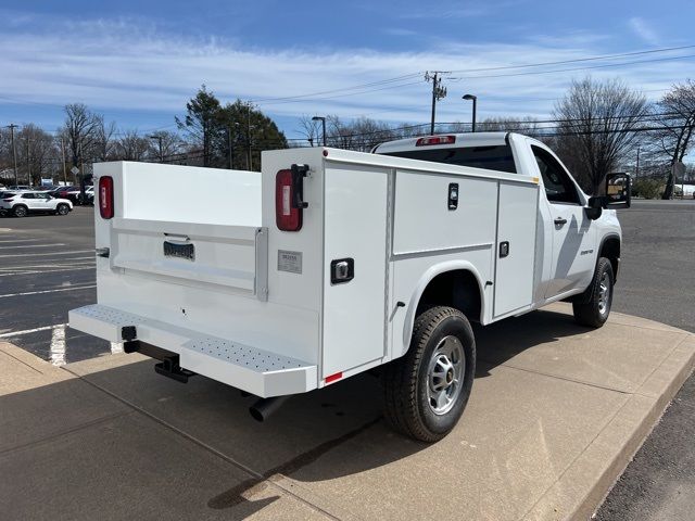
[[[101,304],[71,310],[70,326],[110,342],[139,341],[166,350],[178,355],[181,372],[202,374],[264,398],[304,393],[318,383],[315,364]],[[176,373],[164,366],[155,370]]]

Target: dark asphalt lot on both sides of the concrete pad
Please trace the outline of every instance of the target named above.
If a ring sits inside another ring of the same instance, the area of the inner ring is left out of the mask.
[[[55,365],[114,348],[62,329],[68,309],[96,301],[92,214],[78,207],[65,217],[0,219],[1,340]],[[624,246],[614,309],[695,331],[695,201],[635,202],[620,218]],[[695,507],[693,411],[691,378],[598,519],[691,519],[682,516]]]

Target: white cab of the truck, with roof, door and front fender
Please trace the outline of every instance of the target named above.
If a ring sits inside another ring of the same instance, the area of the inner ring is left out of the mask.
[[[538,179],[542,190],[531,308],[582,293],[601,256],[610,260],[617,279],[621,230],[615,209],[602,211],[545,143],[514,132],[476,132],[390,141],[372,153]]]

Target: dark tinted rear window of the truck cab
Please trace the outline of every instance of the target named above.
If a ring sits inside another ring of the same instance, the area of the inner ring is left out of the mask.
[[[517,173],[514,164],[511,147],[501,144],[494,147],[467,147],[456,149],[419,149],[404,152],[390,152],[384,155],[407,157],[409,160],[433,161],[450,165],[472,166],[490,170]]]

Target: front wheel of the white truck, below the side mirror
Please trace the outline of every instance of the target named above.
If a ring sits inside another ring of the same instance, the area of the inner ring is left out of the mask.
[[[601,328],[606,323],[612,304],[614,284],[612,265],[606,257],[601,257],[591,284],[572,303],[577,323],[591,328]]]

